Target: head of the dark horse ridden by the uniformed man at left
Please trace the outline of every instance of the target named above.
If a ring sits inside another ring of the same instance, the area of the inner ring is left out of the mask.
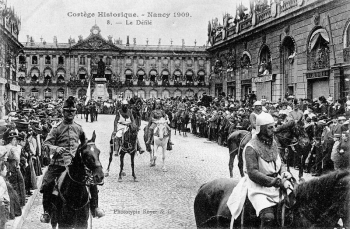
[[[102,171],[101,162],[99,161],[100,150],[95,145],[95,139],[95,131],[93,131],[90,140],[87,140],[85,134],[82,134],[80,136],[80,145],[76,150],[74,160],[78,160],[91,171],[95,184],[102,185],[104,173]]]

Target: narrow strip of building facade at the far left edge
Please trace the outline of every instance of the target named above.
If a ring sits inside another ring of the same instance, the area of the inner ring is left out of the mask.
[[[22,44],[18,41],[20,19],[13,8],[0,0],[0,118],[5,114],[4,105],[12,105],[12,100],[17,100],[16,57],[21,53]],[[22,66],[25,67],[25,66]]]

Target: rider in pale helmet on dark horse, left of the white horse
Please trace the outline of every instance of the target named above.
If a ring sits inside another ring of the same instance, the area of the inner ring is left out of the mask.
[[[122,134],[126,132],[128,125],[132,124],[136,126],[135,119],[132,116],[132,112],[130,109],[127,108],[128,102],[124,99],[121,101],[121,108],[116,111],[115,119],[114,119],[114,130],[112,132],[112,136],[110,139],[110,150],[113,150],[113,139],[114,146],[115,146],[115,156],[119,155],[119,145],[120,145],[120,138],[122,137]],[[138,139],[137,142],[137,150],[142,154],[144,150],[141,148]]]

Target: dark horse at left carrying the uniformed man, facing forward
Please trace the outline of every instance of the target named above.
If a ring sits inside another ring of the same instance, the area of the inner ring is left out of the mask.
[[[80,144],[72,163],[57,180],[58,195],[53,201],[52,228],[87,228],[89,216],[89,186],[103,185],[102,165],[93,131],[90,140],[80,136]]]

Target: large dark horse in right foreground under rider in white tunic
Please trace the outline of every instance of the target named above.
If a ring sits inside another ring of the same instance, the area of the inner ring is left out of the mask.
[[[237,183],[235,179],[219,178],[200,186],[194,199],[197,228],[229,228],[232,215],[226,202]],[[350,170],[336,170],[294,186],[291,194],[295,203],[288,212],[285,211],[285,227],[334,228],[339,218],[344,227],[350,226],[349,187]],[[243,220],[240,214],[234,220],[234,228],[259,227],[260,219],[251,207],[250,201],[246,200]]]

